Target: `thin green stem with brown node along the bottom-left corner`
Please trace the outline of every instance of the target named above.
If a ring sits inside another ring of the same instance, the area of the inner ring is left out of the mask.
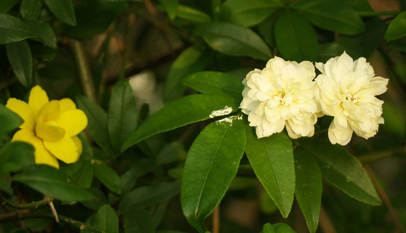
[[[9,221],[14,221],[14,220],[21,220],[21,219],[29,219],[29,218],[48,218],[48,219],[54,219],[55,217],[53,214],[43,214],[43,213],[28,213],[28,214],[18,214],[18,213],[12,213],[12,214],[2,214],[0,215],[0,223],[3,222],[9,222]],[[65,216],[59,215],[59,219],[62,220],[62,222],[66,222],[67,224],[71,226],[78,227],[81,230],[88,230],[91,232],[96,232],[96,233],[106,233],[106,231],[93,227],[87,223],[77,221],[72,218],[68,218]]]

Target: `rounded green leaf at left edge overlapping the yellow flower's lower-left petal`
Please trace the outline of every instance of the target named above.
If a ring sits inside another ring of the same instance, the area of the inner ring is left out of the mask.
[[[7,143],[0,149],[0,171],[13,172],[34,164],[34,147],[25,142]]]

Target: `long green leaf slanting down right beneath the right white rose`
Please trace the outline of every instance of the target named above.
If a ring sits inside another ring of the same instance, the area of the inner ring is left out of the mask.
[[[358,201],[374,206],[382,204],[364,167],[344,147],[318,138],[301,138],[300,147],[315,156],[328,182]]]

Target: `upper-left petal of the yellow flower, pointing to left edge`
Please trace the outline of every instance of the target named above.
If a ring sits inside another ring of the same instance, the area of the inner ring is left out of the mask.
[[[20,126],[21,129],[34,130],[35,114],[26,102],[16,98],[10,98],[7,100],[6,107],[22,118],[24,123]]]

